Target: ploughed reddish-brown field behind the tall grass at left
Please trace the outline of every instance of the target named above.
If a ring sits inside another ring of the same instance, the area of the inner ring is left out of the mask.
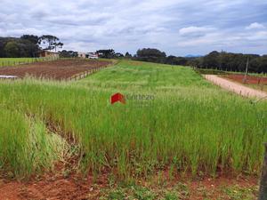
[[[20,78],[29,75],[62,80],[92,68],[106,67],[110,63],[109,61],[99,60],[53,60],[0,68],[0,75],[18,76]]]

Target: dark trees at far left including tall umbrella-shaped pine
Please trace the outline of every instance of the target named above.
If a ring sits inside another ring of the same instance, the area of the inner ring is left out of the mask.
[[[0,37],[0,58],[37,57],[41,50],[56,52],[62,46],[60,39],[51,35]]]

